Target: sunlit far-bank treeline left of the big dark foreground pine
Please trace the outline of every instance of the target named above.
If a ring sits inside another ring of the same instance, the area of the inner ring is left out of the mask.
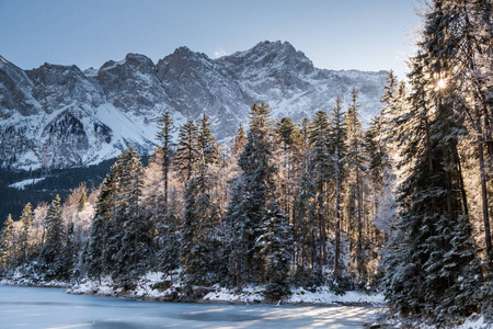
[[[3,273],[128,287],[148,271],[180,272],[190,290],[262,284],[272,298],[293,285],[376,287],[388,234],[375,218],[392,208],[381,197],[392,179],[379,127],[365,132],[358,107],[353,90],[346,109],[337,99],[296,125],[255,103],[248,134],[240,126],[223,146],[205,115],[174,144],[165,113],[147,167],[129,147],[89,197],[81,185],[62,205],[9,218]]]

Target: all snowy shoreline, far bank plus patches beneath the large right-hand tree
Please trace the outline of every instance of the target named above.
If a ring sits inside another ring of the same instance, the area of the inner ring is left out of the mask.
[[[202,294],[197,298],[191,298],[182,293],[182,285],[180,280],[173,281],[171,286],[168,286],[171,281],[163,280],[162,273],[153,273],[151,275],[142,276],[133,290],[123,290],[117,286],[112,280],[104,277],[99,282],[81,280],[79,284],[72,284],[61,281],[38,281],[28,277],[11,277],[0,279],[1,285],[13,286],[28,286],[28,287],[57,287],[62,288],[64,293],[73,295],[92,295],[115,298],[130,298],[135,300],[159,302],[159,303],[198,303],[198,304],[227,304],[227,305],[289,305],[289,306],[372,306],[381,308],[380,316],[374,317],[370,322],[365,325],[377,326],[375,328],[435,328],[423,322],[423,319],[403,319],[399,315],[390,315],[386,311],[387,305],[383,295],[365,294],[363,292],[349,291],[344,295],[335,295],[326,286],[314,287],[313,291],[306,288],[294,288],[291,295],[282,299],[280,302],[267,300],[263,296],[265,286],[248,286],[241,293],[236,293],[234,290],[226,287],[196,287],[194,292]],[[168,277],[164,277],[168,279]],[[163,288],[168,286],[168,288]],[[386,327],[387,326],[387,327]],[[472,315],[465,322],[455,327],[455,329],[483,329],[491,328],[482,315]]]

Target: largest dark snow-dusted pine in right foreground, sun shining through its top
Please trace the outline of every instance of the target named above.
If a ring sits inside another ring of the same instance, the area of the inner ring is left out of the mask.
[[[429,22],[426,33],[437,33],[432,25],[439,19]],[[426,78],[444,69],[434,54],[422,49],[411,61],[412,93],[400,140],[401,166],[411,166],[404,167],[408,177],[400,188],[400,232],[389,245],[386,294],[403,313],[426,313],[444,325],[478,309],[478,296],[462,290],[467,283],[480,291],[481,271],[457,156],[463,129],[452,103],[456,88],[437,88],[439,79]],[[460,304],[452,305],[456,297]]]

